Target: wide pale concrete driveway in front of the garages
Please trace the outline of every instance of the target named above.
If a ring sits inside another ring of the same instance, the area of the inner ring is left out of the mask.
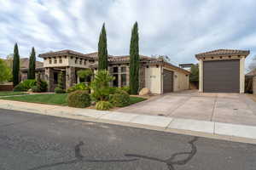
[[[256,126],[256,103],[247,94],[202,94],[187,90],[155,96],[118,111]]]

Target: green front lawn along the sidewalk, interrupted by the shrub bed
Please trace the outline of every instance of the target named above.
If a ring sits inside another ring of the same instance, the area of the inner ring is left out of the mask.
[[[49,105],[67,105],[67,94],[30,94],[24,96],[11,96],[1,99],[24,101],[31,103],[49,104]],[[130,96],[130,105],[145,100],[144,98]]]

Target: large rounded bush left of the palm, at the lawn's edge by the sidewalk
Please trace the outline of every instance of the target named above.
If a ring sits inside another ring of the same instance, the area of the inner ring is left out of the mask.
[[[84,108],[90,106],[90,94],[84,90],[78,90],[67,96],[67,104],[70,107]]]

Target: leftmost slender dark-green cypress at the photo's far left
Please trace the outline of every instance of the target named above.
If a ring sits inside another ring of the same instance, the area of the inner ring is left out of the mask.
[[[14,86],[20,82],[20,54],[18,44],[15,43],[14,60],[13,60],[13,83]]]

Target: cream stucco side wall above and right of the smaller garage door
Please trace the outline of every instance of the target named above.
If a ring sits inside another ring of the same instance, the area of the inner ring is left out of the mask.
[[[177,71],[171,68],[163,67],[163,69],[168,71],[173,71],[173,91],[181,91],[189,89],[189,75],[182,71]],[[163,83],[162,83],[163,86]],[[163,89],[163,88],[162,88]]]

